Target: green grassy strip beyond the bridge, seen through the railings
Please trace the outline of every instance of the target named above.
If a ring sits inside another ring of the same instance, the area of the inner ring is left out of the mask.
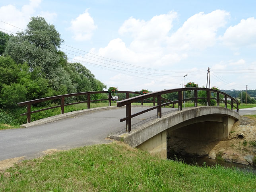
[[[53,103],[51,105],[48,105],[48,107],[53,107],[56,104]],[[116,103],[112,103],[112,106],[116,105]],[[133,105],[140,105],[140,103],[133,103]],[[153,106],[153,103],[144,103],[144,105],[149,105]],[[106,107],[108,106],[108,103],[91,103],[91,108],[95,107]],[[194,103],[185,103],[185,107],[193,107]],[[198,104],[198,106],[201,106]],[[224,107],[224,103],[220,104],[221,107]],[[175,105],[175,107],[178,107],[178,104]],[[183,107],[183,105],[182,105]],[[227,107],[231,109],[231,106],[228,104]],[[250,107],[256,107],[256,104],[243,104],[242,106],[239,105],[239,109],[244,109],[244,108],[250,108]],[[35,111],[38,109],[42,109],[40,107],[31,107],[31,111]],[[87,104],[82,103],[82,104],[76,104],[76,105],[69,105],[64,108],[64,112],[71,112],[71,111],[78,111],[82,109],[87,109]],[[2,129],[10,129],[10,128],[19,128],[20,124],[26,123],[26,116],[19,116],[21,113],[26,112],[25,107],[20,107],[16,111],[12,112],[5,112],[5,111],[0,111],[0,130]],[[10,115],[12,114],[12,115]],[[37,112],[34,114],[31,114],[31,121],[35,121],[38,119],[46,118],[49,116],[54,116],[60,114],[60,108],[55,108],[55,109],[50,109],[46,111],[41,111]],[[2,116],[1,116],[2,115]],[[5,122],[1,122],[1,119],[4,119]]]

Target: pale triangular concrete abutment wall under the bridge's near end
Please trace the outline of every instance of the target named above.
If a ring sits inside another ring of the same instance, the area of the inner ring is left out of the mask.
[[[152,155],[156,155],[163,159],[167,158],[166,130],[153,136],[149,140],[137,146],[138,149],[148,151]]]

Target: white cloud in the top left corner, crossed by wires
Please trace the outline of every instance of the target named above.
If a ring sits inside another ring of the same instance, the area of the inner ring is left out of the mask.
[[[17,9],[16,6],[9,4],[7,6],[0,7],[0,18],[2,21],[12,24],[21,29],[25,29],[29,19],[35,14],[35,9],[41,4],[41,0],[30,0],[29,4],[22,6],[21,10]],[[21,29],[0,22],[0,27],[8,31],[16,33]],[[7,33],[11,33],[4,31]]]

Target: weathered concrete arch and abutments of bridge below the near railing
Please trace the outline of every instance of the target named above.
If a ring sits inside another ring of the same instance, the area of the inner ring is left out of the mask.
[[[228,138],[234,122],[239,120],[239,118],[240,115],[237,112],[224,107],[190,107],[183,111],[163,114],[162,118],[149,118],[134,124],[130,133],[122,130],[115,135],[109,136],[109,138],[122,140],[132,147],[137,147],[166,158],[167,133],[177,134],[184,138],[194,136],[195,139],[198,139],[196,138],[199,135],[198,132],[204,130],[205,126],[201,126],[201,129],[198,130],[196,129],[196,124],[216,122],[217,124],[207,123],[208,128],[207,130],[205,129],[206,133],[203,137],[206,139],[212,137],[212,139],[225,140]],[[217,129],[211,131],[213,130],[212,126],[217,126]],[[178,129],[180,131],[173,132]]]

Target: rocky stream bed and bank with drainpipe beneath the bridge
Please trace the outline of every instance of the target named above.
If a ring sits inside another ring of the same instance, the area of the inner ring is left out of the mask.
[[[167,153],[256,165],[256,117],[241,116],[225,141],[198,141],[168,135]]]

